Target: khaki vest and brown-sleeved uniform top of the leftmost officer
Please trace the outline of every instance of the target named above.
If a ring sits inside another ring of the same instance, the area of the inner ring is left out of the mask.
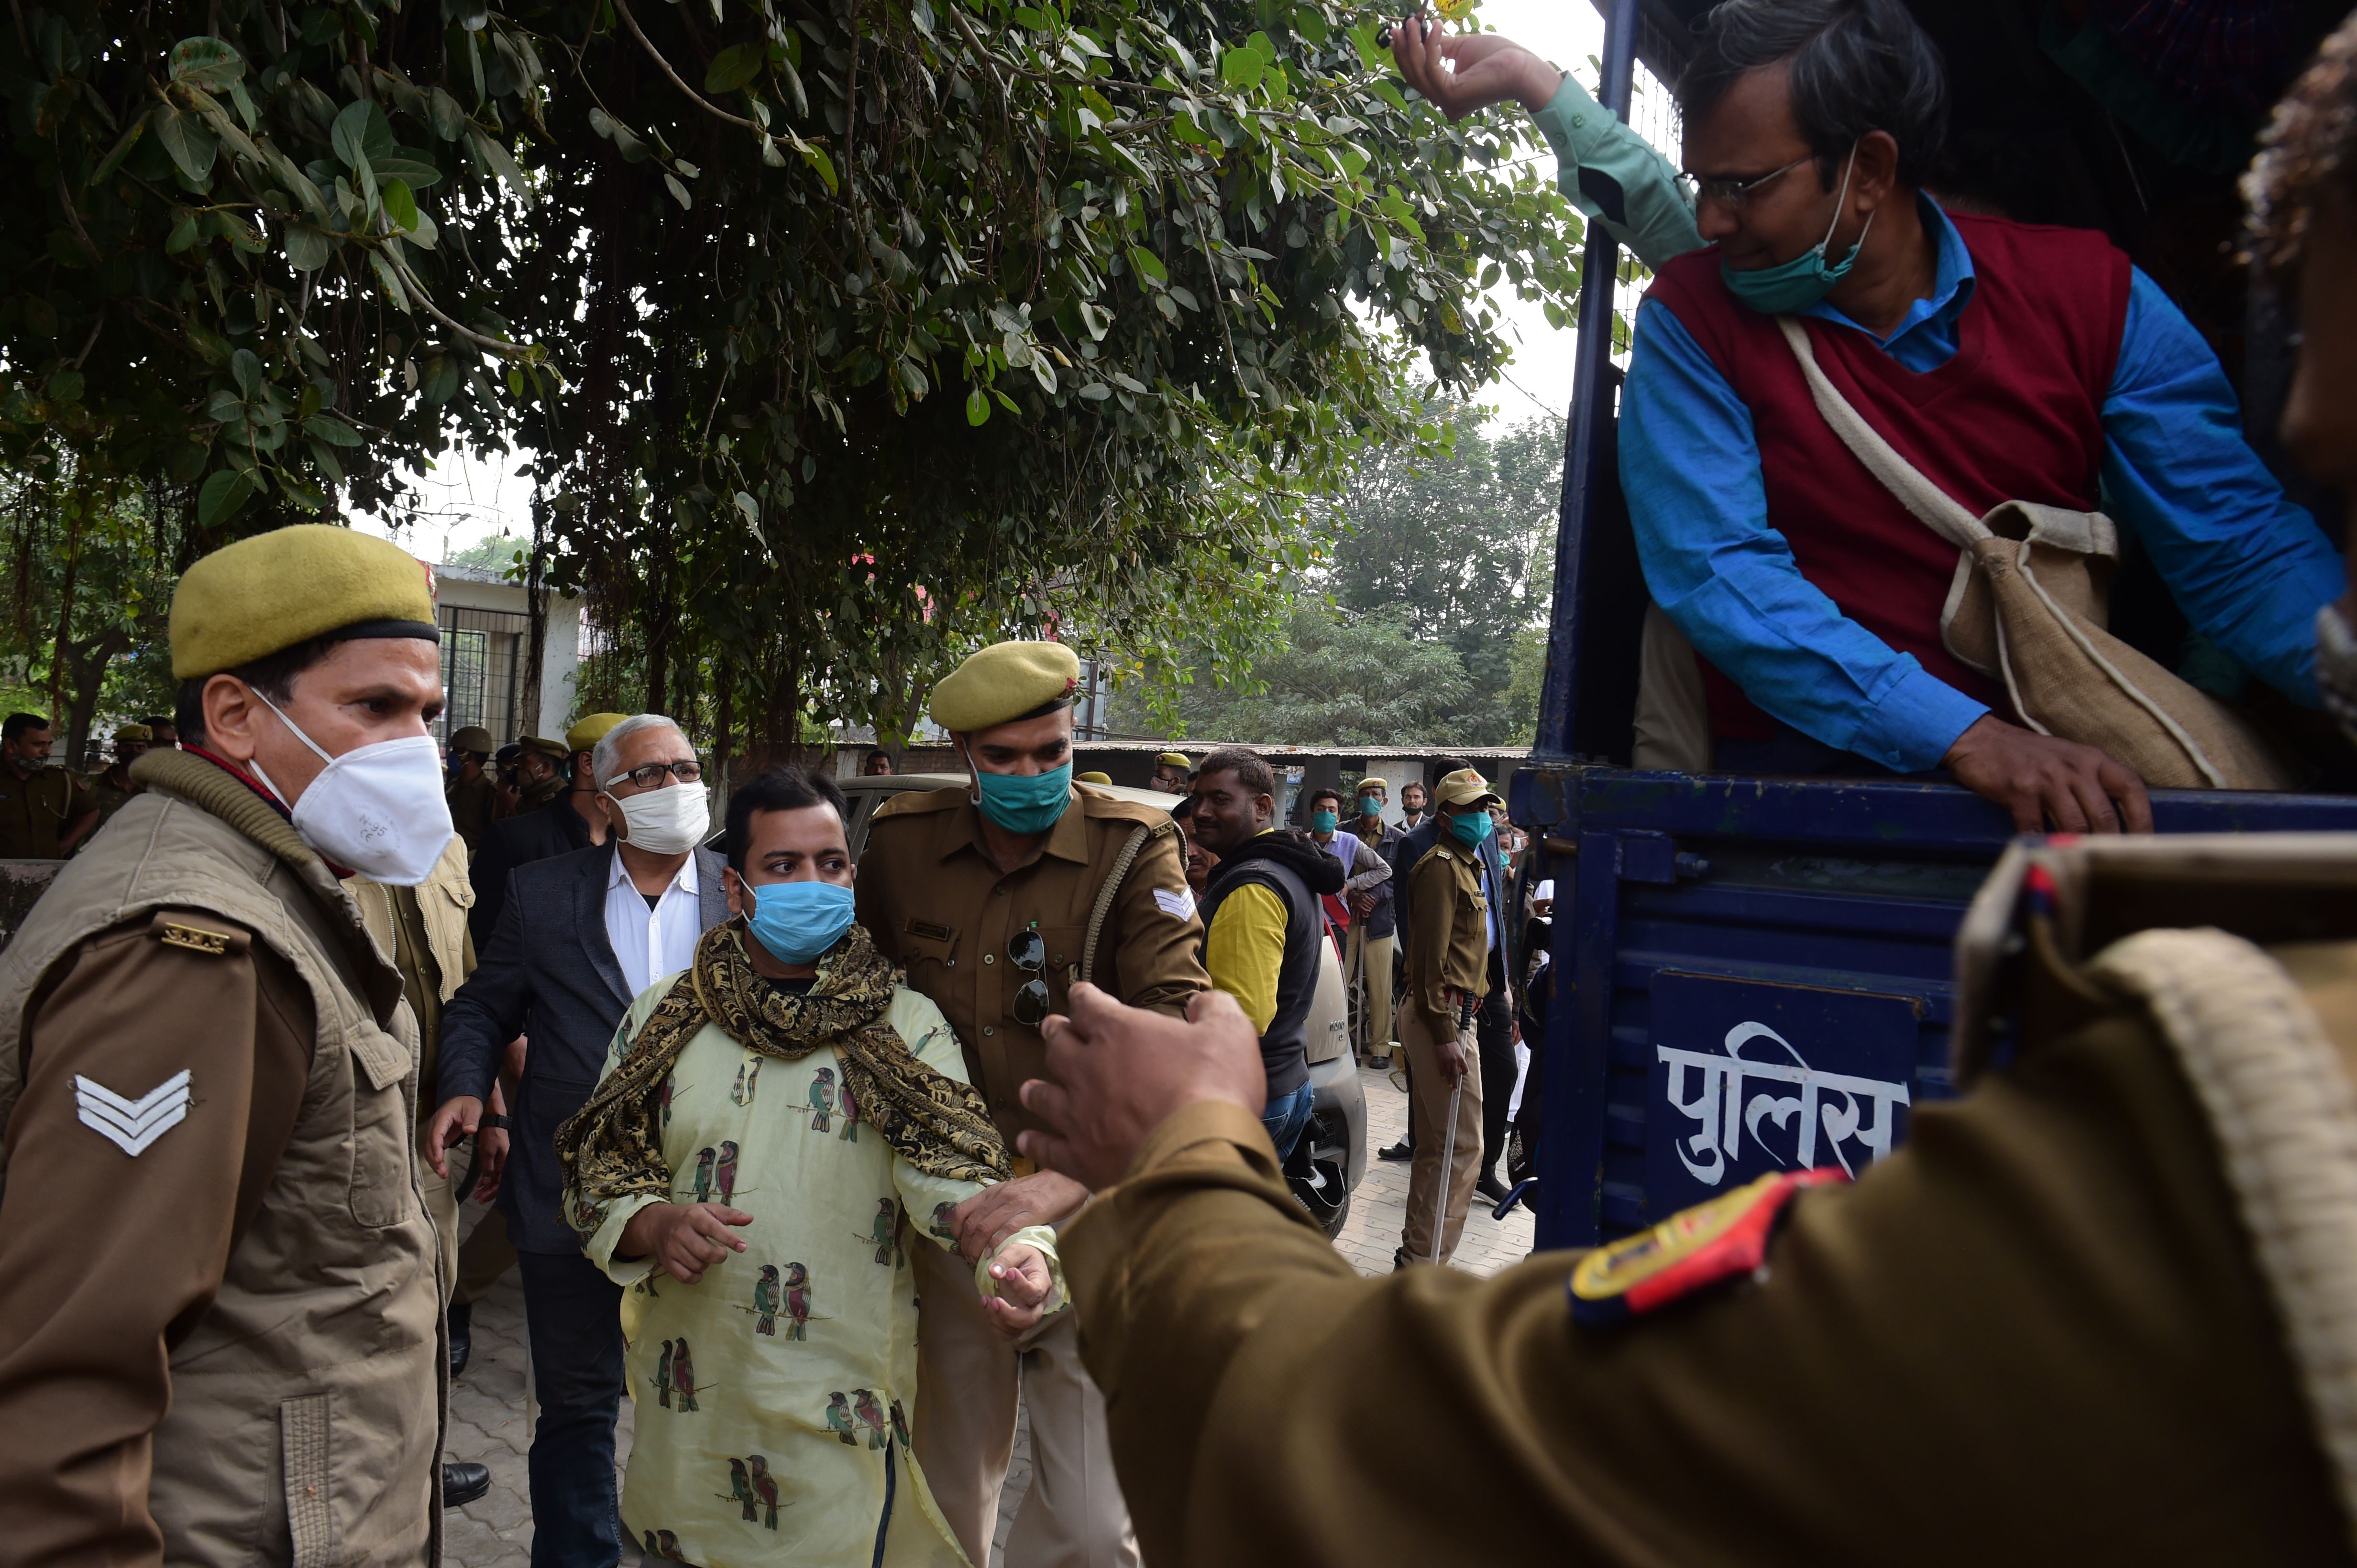
[[[259,796],[184,751],[132,772],[0,956],[0,1540],[434,1563],[443,1288],[398,975]],[[99,1130],[94,1090],[174,1064],[153,1137]]]

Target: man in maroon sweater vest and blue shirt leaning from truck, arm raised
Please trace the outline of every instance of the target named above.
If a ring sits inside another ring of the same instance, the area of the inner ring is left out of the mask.
[[[1714,9],[1678,82],[1690,205],[1666,160],[1530,49],[1402,21],[1393,52],[1450,115],[1530,108],[1565,195],[1657,271],[1622,393],[1622,485],[1652,598],[1706,659],[1718,768],[1945,768],[2029,831],[2152,824],[2135,775],[2013,723],[2001,687],[1947,650],[1956,546],[1824,424],[1777,318],[1973,516],[2008,499],[2110,513],[2216,652],[2317,704],[2331,544],[2242,440],[2216,356],[2126,254],[1923,193],[1947,87],[1900,0]]]

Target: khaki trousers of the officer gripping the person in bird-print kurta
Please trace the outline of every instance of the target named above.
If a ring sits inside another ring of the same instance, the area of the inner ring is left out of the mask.
[[[1030,1410],[1032,1483],[1006,1537],[1006,1568],[1136,1568],[1138,1537],[1113,1479],[1105,1396],[1080,1363],[1065,1307],[1021,1344],[983,1314],[973,1267],[931,1243],[917,1260],[917,1464],[950,1530],[990,1561],[999,1488],[1016,1443],[1016,1401]]]

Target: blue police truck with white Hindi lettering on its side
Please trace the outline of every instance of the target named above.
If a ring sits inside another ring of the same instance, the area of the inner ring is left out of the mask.
[[[1600,99],[1626,115],[1636,64],[1673,82],[1709,0],[1596,2]],[[2251,120],[2140,99],[2133,73],[2088,66],[2072,21],[2088,7],[1909,5],[1949,68],[1942,200],[2107,231],[2220,348],[2253,445],[2331,530],[2336,509],[2275,459],[2286,318],[2232,257]],[[2296,21],[2267,99],[2336,21],[2333,5],[2282,9]],[[1511,782],[1516,822],[1541,833],[1544,869],[1523,881],[1556,881],[1530,1191],[1541,1248],[1624,1236],[1770,1170],[1860,1170],[1904,1142],[1914,1109],[1952,1092],[1952,939],[2013,836],[2003,810],[1937,779],[1629,765],[1648,596],[1615,459],[1619,264],[1591,226],[1544,706]],[[2171,666],[2187,647],[2133,549],[2112,631]],[[2157,831],[2357,829],[2357,753],[2289,704],[2258,718],[2300,756],[2308,793],[2157,791]]]

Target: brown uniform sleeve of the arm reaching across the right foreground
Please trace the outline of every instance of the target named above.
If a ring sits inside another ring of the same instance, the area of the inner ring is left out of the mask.
[[[1101,1031],[1101,1083],[1181,1029]],[[1617,1328],[1570,1318],[1570,1253],[1355,1278],[1240,1104],[1131,1147],[1063,1262],[1146,1561],[2350,1563],[2216,1140],[2140,1019],[1921,1109],[1794,1201],[1758,1276]]]

